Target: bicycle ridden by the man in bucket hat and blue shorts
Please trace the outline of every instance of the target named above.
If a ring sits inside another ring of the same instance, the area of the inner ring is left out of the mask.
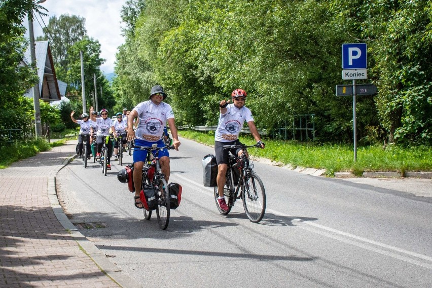
[[[141,190],[144,186],[151,185],[155,189],[155,196],[158,202],[156,209],[156,217],[158,219],[159,227],[165,230],[169,223],[169,211],[170,211],[170,195],[168,191],[168,185],[165,180],[165,174],[162,173],[161,165],[159,162],[159,151],[163,149],[174,149],[174,146],[166,146],[158,148],[157,144],[154,143],[152,147],[134,146],[135,149],[146,150],[147,158],[144,166],[142,167],[142,182]],[[152,159],[153,153],[156,151],[155,156]],[[144,210],[144,218],[150,220],[152,217],[152,211]]]

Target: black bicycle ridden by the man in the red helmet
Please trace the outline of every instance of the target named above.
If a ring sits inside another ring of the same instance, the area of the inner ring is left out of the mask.
[[[227,215],[237,199],[242,199],[243,208],[251,222],[259,223],[266,210],[266,192],[261,178],[254,172],[254,164],[249,164],[247,148],[257,148],[258,145],[224,145],[223,149],[241,148],[241,156],[230,153],[229,164],[224,186],[224,195],[227,197],[228,210],[222,210],[218,203],[218,187],[214,187],[214,201],[221,214]],[[237,178],[238,177],[238,178]],[[235,189],[234,186],[237,186]]]

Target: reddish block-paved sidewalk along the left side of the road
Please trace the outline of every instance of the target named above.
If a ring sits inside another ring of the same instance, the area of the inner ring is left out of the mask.
[[[54,176],[75,147],[69,142],[0,170],[0,287],[119,287],[50,203]]]

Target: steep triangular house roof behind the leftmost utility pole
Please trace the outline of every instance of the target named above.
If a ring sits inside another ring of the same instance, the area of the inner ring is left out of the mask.
[[[35,44],[36,67],[38,68],[39,77],[39,94],[42,100],[52,101],[60,100],[60,90],[55,76],[55,69],[51,49],[48,41],[37,41]],[[30,49],[26,51],[26,63],[31,63]],[[33,97],[33,89],[25,94],[27,97]]]

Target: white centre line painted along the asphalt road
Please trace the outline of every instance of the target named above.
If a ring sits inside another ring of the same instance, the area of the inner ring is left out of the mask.
[[[188,178],[186,178],[182,175],[179,175],[179,174],[173,173],[173,174],[171,174],[171,176],[183,179],[184,181],[192,184],[193,186],[198,187],[199,188],[198,191],[200,193],[205,194],[205,195],[213,198],[213,188],[204,187],[201,183],[195,182],[195,181],[188,179]],[[208,192],[211,192],[211,193],[208,193]],[[333,229],[333,228],[330,228],[327,226],[319,225],[319,224],[316,224],[316,223],[313,223],[310,221],[302,221],[300,219],[295,219],[295,217],[293,217],[291,215],[288,215],[288,214],[285,214],[285,213],[282,213],[282,212],[279,212],[279,211],[276,211],[273,209],[266,208],[266,211],[271,212],[275,215],[280,215],[282,217],[293,218],[293,222],[296,222],[297,227],[305,229],[307,231],[310,231],[310,232],[313,232],[313,233],[316,233],[316,234],[319,234],[322,236],[326,236],[326,237],[329,237],[329,238],[332,238],[335,240],[339,240],[339,241],[342,241],[344,243],[349,243],[349,244],[355,245],[357,247],[361,247],[361,248],[364,248],[364,249],[367,249],[370,251],[374,251],[376,253],[390,256],[392,258],[406,261],[406,262],[409,262],[409,263],[412,263],[412,264],[415,264],[415,265],[418,265],[421,267],[432,269],[432,257],[428,257],[426,255],[418,254],[418,253],[408,251],[408,250],[405,250],[405,249],[402,249],[399,247],[387,245],[385,243],[381,243],[378,241],[374,241],[371,239],[367,239],[364,237],[360,237],[360,236],[356,236],[356,235],[353,235],[350,233],[339,231],[339,230],[336,230],[336,229]],[[324,231],[321,231],[319,229],[324,230]],[[326,232],[326,231],[328,231],[328,232]],[[334,234],[331,234],[329,232],[334,233]],[[373,245],[375,245],[375,246],[373,246]],[[387,250],[378,248],[376,246],[387,249]],[[395,252],[397,252],[399,254],[395,254]],[[400,254],[403,254],[403,255],[400,255]],[[409,258],[407,256],[414,257],[417,259],[422,259],[422,260],[428,261],[430,263],[424,263],[424,262]]]

